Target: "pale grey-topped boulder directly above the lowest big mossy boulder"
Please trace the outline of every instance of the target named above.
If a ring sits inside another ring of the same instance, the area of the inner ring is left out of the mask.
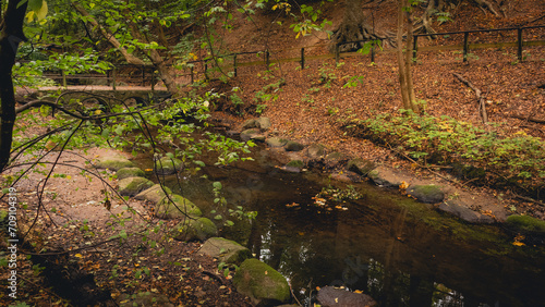
[[[252,258],[246,247],[223,237],[210,237],[198,249],[198,253],[218,258],[219,262],[240,266],[242,261]]]

